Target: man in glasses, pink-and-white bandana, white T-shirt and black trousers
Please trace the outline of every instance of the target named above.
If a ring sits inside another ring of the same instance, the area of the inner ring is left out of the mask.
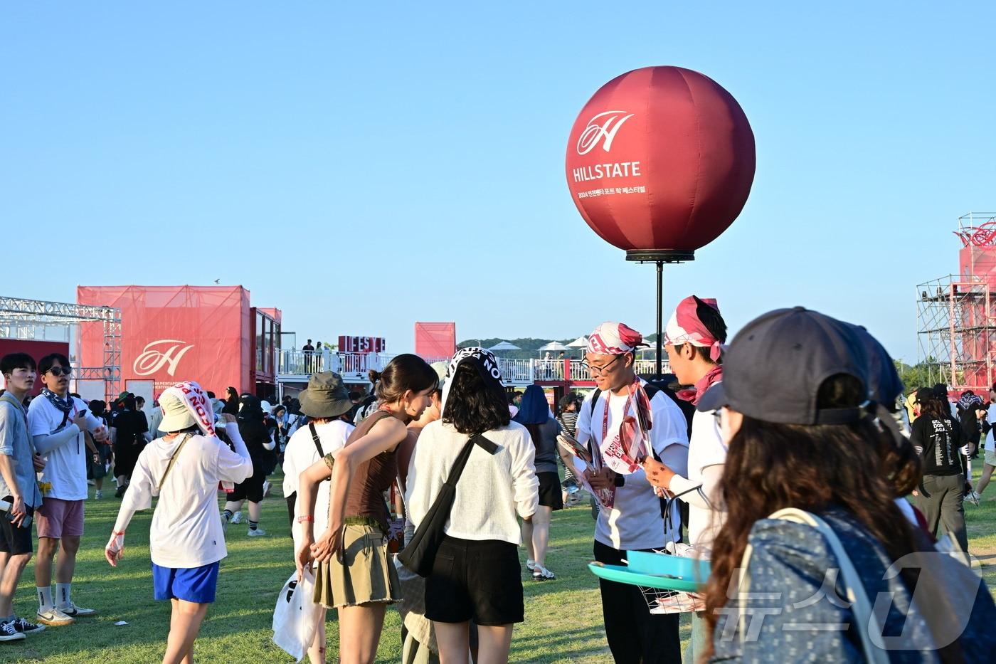
[[[600,454],[622,441],[623,418],[648,421],[641,433],[648,440],[649,456],[685,475],[685,418],[663,391],[636,376],[633,360],[642,345],[639,332],[622,323],[603,323],[592,332],[585,359],[598,390],[578,413],[577,439]],[[596,560],[625,564],[626,551],[660,549],[678,538],[677,504],[672,505],[670,531],[665,532],[660,499],[638,466],[628,475],[617,475],[607,466],[586,477],[597,491],[615,489],[612,506],[603,506],[596,521]],[[604,580],[599,584],[606,637],[617,662],[681,660],[678,614],[651,614],[635,586]]]

